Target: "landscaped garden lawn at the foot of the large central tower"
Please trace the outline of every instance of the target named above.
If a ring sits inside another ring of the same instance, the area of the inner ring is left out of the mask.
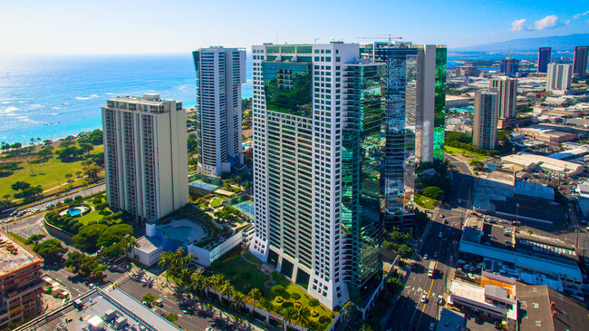
[[[248,261],[256,262],[257,264],[262,264],[260,260],[256,257],[251,255],[249,252],[246,252],[245,257]],[[211,272],[214,273],[222,273],[231,281],[231,284],[236,287],[237,290],[241,291],[243,294],[247,294],[251,288],[257,287],[261,290],[264,297],[266,297],[272,304],[276,307],[276,309],[284,304],[285,302],[294,302],[290,296],[293,293],[298,293],[301,298],[298,300],[301,302],[304,307],[307,307],[310,311],[313,310],[312,307],[309,307],[309,301],[313,299],[313,297],[309,296],[307,292],[288,280],[286,277],[280,275],[278,272],[274,272],[272,274],[272,278],[275,280],[276,285],[282,285],[285,287],[286,291],[283,297],[283,303],[279,304],[275,301],[274,295],[270,292],[271,287],[266,287],[264,283],[266,280],[269,280],[270,277],[266,276],[262,271],[260,271],[257,266],[252,265],[251,263],[247,263],[244,261],[243,258],[239,255],[234,255],[228,258],[225,258],[220,261],[220,263],[216,263],[216,266],[211,266]],[[251,277],[243,277],[245,273],[251,275]],[[249,287],[245,287],[246,284],[249,284]],[[315,311],[319,314],[316,317],[310,317],[311,320],[317,321],[321,316],[327,316],[332,318],[332,311],[329,310],[327,307],[319,306],[315,307]]]

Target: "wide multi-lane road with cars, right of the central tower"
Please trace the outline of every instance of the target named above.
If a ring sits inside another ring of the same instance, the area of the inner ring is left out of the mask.
[[[439,295],[444,296],[447,277],[452,271],[451,264],[456,259],[454,256],[457,254],[458,244],[454,239],[459,237],[463,213],[463,209],[437,209],[434,213],[430,230],[419,248],[418,258],[408,267],[409,276],[405,288],[385,330],[429,330],[430,323],[437,323],[441,309],[437,298]],[[442,233],[441,238],[439,232]],[[434,257],[436,253],[438,258]],[[429,256],[427,260],[422,258],[424,254]],[[428,277],[430,261],[437,261],[433,278]],[[422,295],[427,297],[425,303],[420,302]],[[447,297],[444,303],[446,299]]]

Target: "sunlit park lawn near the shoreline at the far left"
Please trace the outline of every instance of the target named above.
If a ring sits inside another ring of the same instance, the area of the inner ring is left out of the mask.
[[[56,152],[61,151],[59,148],[55,148],[54,154]],[[91,151],[91,154],[98,154],[104,151],[103,145],[94,146],[94,150]],[[22,159],[26,159],[24,156]],[[11,159],[2,159],[2,161],[9,162]],[[3,177],[0,180],[0,197],[5,196],[6,194],[14,197],[14,190],[10,187],[16,181],[26,181],[31,184],[31,186],[41,185],[43,190],[53,189],[56,186],[65,184],[67,179],[65,175],[70,173],[73,175],[72,179],[76,177],[77,171],[82,171],[83,165],[82,161],[74,161],[74,162],[62,162],[60,159],[57,159],[56,155],[53,155],[49,161],[44,163],[33,163],[29,164],[27,161],[23,161],[19,164],[19,167],[22,169],[14,171],[14,173],[10,176]],[[82,173],[83,175],[83,173]],[[72,185],[81,184],[82,180],[75,180]]]

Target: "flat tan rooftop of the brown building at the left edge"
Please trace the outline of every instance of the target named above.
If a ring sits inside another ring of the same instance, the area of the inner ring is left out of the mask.
[[[41,257],[18,240],[12,239],[4,230],[0,230],[0,277],[40,262],[43,262]]]

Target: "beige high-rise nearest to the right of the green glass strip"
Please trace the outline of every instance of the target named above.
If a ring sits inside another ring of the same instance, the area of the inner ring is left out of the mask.
[[[497,104],[497,90],[488,89],[475,93],[472,144],[480,149],[492,150],[497,144]]]

